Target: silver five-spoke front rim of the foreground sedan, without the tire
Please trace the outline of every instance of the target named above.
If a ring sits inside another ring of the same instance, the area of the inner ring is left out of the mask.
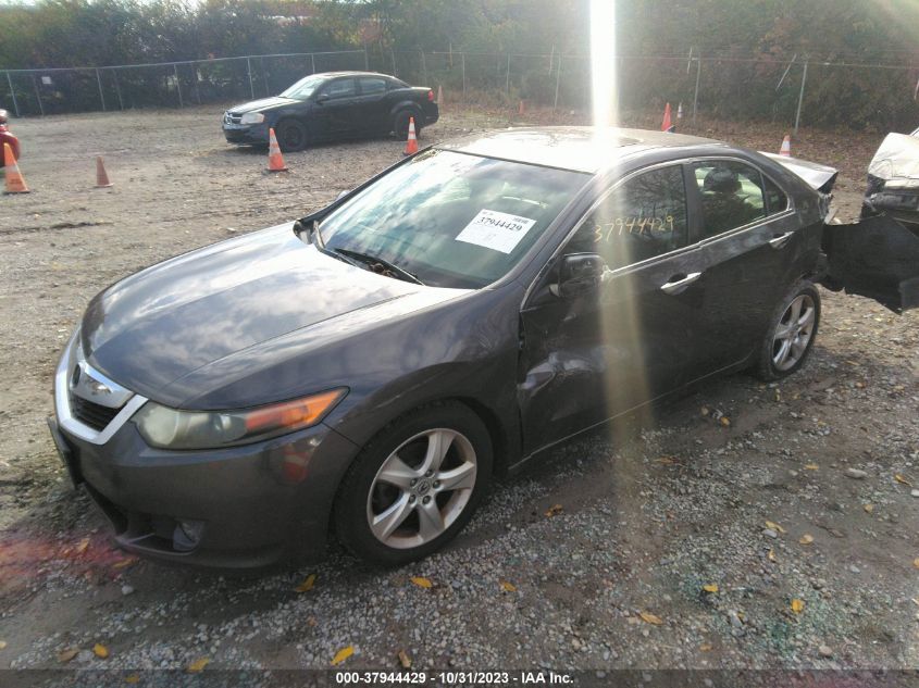
[[[395,549],[431,542],[469,504],[476,472],[475,450],[461,433],[434,428],[410,437],[386,458],[371,484],[371,533]]]

